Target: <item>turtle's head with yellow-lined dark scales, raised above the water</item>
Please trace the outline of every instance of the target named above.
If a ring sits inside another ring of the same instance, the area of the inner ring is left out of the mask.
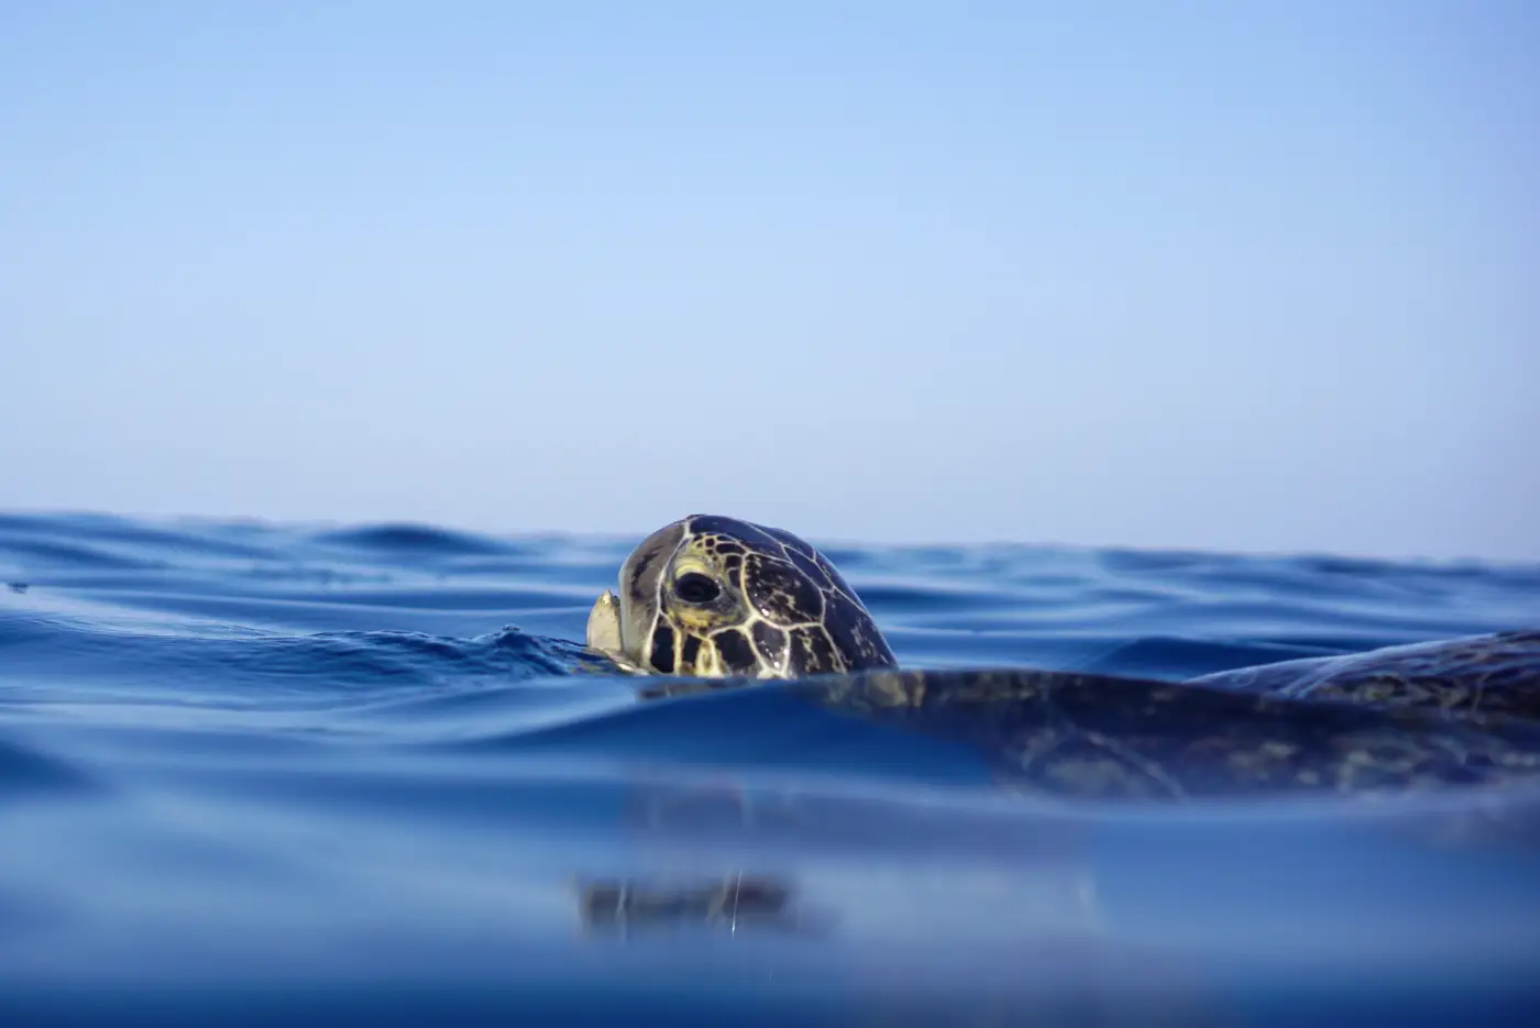
[[[896,666],[855,591],[796,536],[695,514],[625,559],[588,646],[627,671],[796,679]]]

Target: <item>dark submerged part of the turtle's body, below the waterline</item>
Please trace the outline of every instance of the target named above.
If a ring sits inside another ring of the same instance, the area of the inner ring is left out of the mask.
[[[659,680],[641,694],[748,682]],[[966,743],[998,785],[1043,799],[1383,796],[1540,776],[1540,731],[1503,717],[1027,669],[865,671],[779,688],[876,725]]]

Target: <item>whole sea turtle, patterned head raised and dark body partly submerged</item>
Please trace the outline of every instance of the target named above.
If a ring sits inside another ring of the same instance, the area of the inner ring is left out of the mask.
[[[625,560],[587,645],[664,676],[644,697],[790,679],[832,709],[972,743],[1033,794],[1424,793],[1540,777],[1540,629],[1187,682],[899,669],[835,566],[792,532],[696,514]]]

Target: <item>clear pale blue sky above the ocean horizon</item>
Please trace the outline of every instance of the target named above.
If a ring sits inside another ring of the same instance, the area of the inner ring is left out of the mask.
[[[1540,557],[1540,5],[6,3],[0,508]]]

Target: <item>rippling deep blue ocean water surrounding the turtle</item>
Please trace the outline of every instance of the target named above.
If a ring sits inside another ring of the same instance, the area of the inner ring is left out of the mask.
[[[1540,1023],[1534,834],[1030,806],[773,686],[642,702],[579,642],[653,528],[0,517],[0,1025]],[[822,548],[910,666],[1540,623],[1537,566]]]

